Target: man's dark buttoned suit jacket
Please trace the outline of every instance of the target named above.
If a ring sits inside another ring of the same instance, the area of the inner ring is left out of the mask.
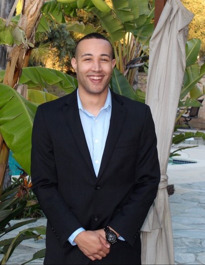
[[[140,264],[140,228],[160,179],[149,106],[112,94],[98,177],[80,121],[76,91],[38,107],[32,134],[33,191],[48,219],[45,264],[88,264],[68,237],[111,226],[126,241],[97,264]],[[91,264],[93,264],[91,262]]]

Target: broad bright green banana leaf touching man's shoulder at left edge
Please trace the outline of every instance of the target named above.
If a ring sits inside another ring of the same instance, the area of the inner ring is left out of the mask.
[[[0,133],[14,159],[30,175],[31,133],[37,106],[0,84]]]

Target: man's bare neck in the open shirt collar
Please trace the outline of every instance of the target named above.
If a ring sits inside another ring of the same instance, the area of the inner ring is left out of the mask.
[[[78,92],[83,108],[95,117],[98,116],[100,110],[105,104],[108,89],[104,90],[100,94],[86,93],[81,89],[78,89]]]

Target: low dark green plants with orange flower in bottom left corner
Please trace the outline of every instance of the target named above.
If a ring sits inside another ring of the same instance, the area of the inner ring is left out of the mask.
[[[30,188],[31,182],[22,171],[20,177],[16,179],[10,187],[3,190],[0,196],[0,238],[23,225],[37,221],[37,219],[29,219],[27,221],[19,221],[13,225],[9,223],[12,219],[21,215],[28,202],[32,200],[29,196]],[[0,264],[6,264],[15,248],[23,240],[31,238],[39,240],[41,239],[40,235],[45,235],[45,232],[45,226],[37,226],[24,229],[15,237],[0,239],[0,252],[3,254]]]

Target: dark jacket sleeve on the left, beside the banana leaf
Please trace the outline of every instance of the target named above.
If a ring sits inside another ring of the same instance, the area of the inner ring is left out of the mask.
[[[31,179],[33,192],[38,198],[52,231],[63,245],[68,237],[82,225],[71,213],[57,190],[53,145],[42,106],[37,109],[33,125]]]

